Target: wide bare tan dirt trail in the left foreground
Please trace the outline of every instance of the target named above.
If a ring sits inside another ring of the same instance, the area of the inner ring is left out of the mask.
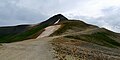
[[[54,60],[49,44],[52,39],[46,37],[3,44],[0,47],[0,60]]]

